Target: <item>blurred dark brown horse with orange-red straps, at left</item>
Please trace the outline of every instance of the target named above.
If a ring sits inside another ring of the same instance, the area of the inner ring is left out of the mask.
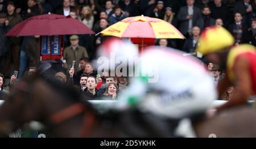
[[[35,74],[15,83],[0,107],[1,136],[30,121],[44,124],[53,137],[170,136],[167,126],[151,114],[138,110],[100,114],[73,86],[52,77]]]

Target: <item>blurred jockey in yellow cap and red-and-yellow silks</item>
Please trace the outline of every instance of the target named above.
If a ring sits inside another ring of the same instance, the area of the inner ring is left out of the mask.
[[[198,42],[196,51],[225,70],[226,75],[218,82],[219,97],[222,97],[228,87],[234,85],[236,88],[236,93],[228,102],[217,107],[216,112],[245,105],[249,97],[256,94],[255,46],[233,46],[235,40],[231,33],[215,25],[205,29]]]

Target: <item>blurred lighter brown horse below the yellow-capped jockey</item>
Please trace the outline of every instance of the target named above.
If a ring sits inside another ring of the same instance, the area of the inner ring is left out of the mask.
[[[226,110],[194,124],[198,137],[256,137],[256,111],[252,107]],[[212,135],[213,134],[213,135]]]

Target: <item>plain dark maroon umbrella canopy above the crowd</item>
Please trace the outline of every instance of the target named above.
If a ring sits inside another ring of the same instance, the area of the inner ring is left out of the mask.
[[[93,34],[82,22],[64,15],[37,15],[15,25],[6,36]]]

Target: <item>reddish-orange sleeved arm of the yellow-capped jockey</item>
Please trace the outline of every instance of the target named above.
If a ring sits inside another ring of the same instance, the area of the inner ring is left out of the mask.
[[[235,93],[227,103],[217,107],[217,111],[245,104],[252,93],[249,62],[246,58],[241,57],[234,63],[234,75]]]

